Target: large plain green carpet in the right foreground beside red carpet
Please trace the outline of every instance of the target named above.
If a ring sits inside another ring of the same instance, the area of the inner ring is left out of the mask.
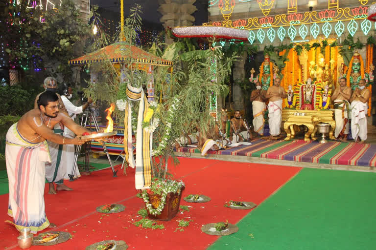
[[[304,168],[209,249],[375,249],[375,197],[376,173]]]

